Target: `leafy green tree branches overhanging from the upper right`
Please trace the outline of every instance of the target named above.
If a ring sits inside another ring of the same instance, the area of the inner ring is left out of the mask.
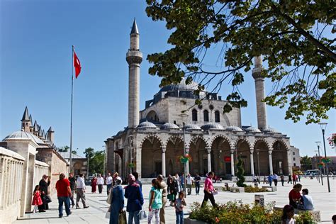
[[[262,76],[274,84],[264,101],[286,106],[286,119],[297,122],[306,116],[306,123],[317,123],[335,108],[336,39],[327,35],[336,32],[335,1],[147,0],[146,12],[172,30],[167,42],[173,47],[147,56],[153,63],[149,73],[162,77],[160,86],[182,77],[187,84],[198,79],[194,93],[199,94],[211,82],[211,91],[218,92],[230,81],[227,113],[247,106],[238,89],[242,72],[249,72],[252,59],[262,55]],[[213,53],[219,68],[208,70],[206,60]]]

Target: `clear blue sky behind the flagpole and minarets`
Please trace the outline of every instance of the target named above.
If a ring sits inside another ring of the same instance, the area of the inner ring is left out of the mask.
[[[69,145],[72,45],[82,64],[74,80],[73,148],[103,150],[104,140],[127,125],[128,64],[125,54],[136,18],[140,50],[140,109],[159,90],[159,78],[148,74],[147,54],[167,50],[169,31],[146,16],[145,1],[0,1],[1,104],[0,138],[20,130],[28,106],[33,120],[55,130],[55,144]],[[213,65],[217,57],[213,55]],[[242,108],[242,124],[257,125],[254,81],[245,75],[240,91],[249,102]],[[267,93],[271,85],[266,82]],[[230,91],[223,86],[220,94]],[[284,120],[284,109],[267,107],[268,123],[291,137],[301,155],[315,155],[322,141],[319,125]],[[335,111],[326,137],[335,133]],[[335,155],[327,145],[328,155]]]

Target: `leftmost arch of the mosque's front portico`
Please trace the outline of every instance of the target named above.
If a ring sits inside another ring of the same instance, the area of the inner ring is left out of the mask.
[[[156,135],[147,135],[141,142],[141,177],[157,177],[162,174],[162,140]]]

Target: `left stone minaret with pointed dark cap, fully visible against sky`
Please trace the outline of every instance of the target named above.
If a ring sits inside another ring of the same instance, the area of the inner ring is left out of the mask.
[[[140,63],[142,62],[139,37],[138,26],[134,19],[130,31],[130,49],[126,54],[128,62],[128,128],[135,128],[139,124]]]

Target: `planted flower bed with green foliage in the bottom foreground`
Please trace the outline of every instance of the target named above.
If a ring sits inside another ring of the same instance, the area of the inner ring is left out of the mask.
[[[191,205],[189,218],[206,223],[281,223],[282,212],[273,211],[273,206],[250,206],[242,201],[229,201],[218,208],[201,208],[201,204],[195,202]],[[296,216],[296,223],[313,223],[313,219],[310,214],[303,213]]]

